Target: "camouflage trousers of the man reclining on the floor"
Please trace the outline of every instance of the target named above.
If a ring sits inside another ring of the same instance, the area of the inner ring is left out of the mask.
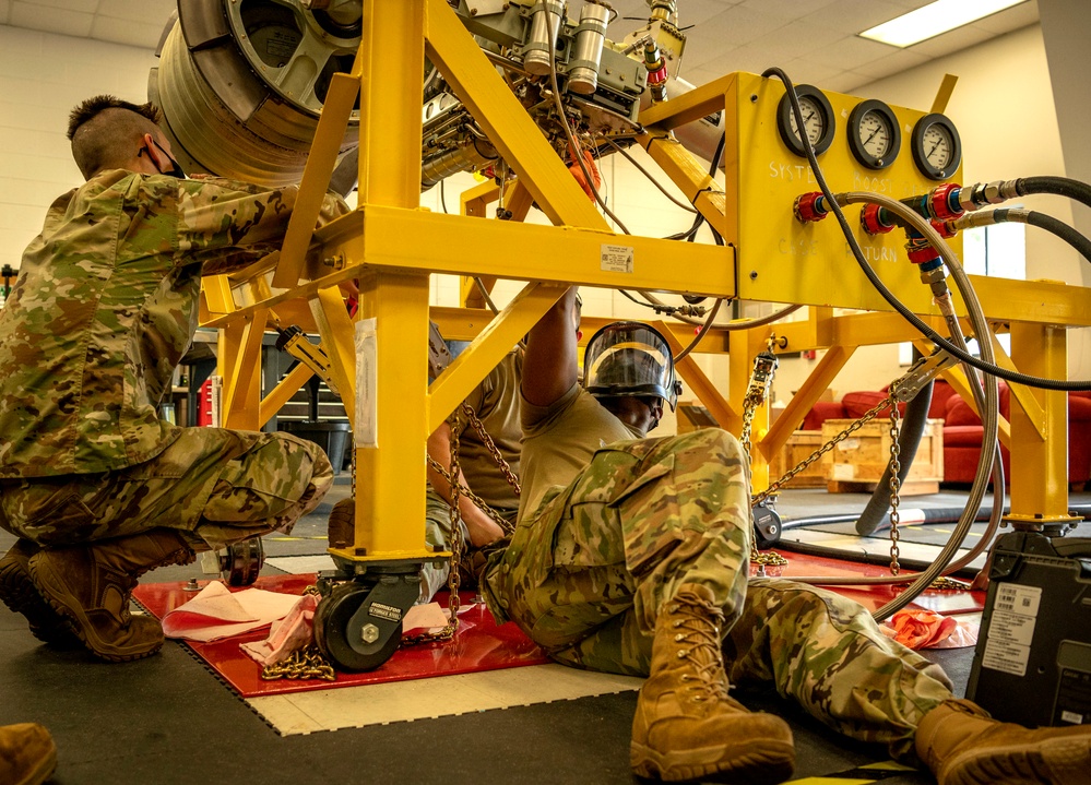
[[[829,727],[910,759],[921,717],[951,698],[950,680],[857,603],[748,581],[749,493],[742,450],[724,431],[610,444],[519,522],[489,564],[486,600],[560,663],[644,676],[659,609],[680,584],[701,583],[726,617],[732,683],[772,687]]]

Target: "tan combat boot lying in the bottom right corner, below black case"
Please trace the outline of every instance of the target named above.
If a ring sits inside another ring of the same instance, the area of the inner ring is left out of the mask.
[[[949,700],[924,715],[916,753],[939,785],[1091,782],[1091,725],[1031,730],[992,719],[967,700]]]

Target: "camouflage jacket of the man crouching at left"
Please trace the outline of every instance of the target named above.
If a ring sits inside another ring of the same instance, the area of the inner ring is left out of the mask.
[[[197,328],[202,267],[277,247],[296,193],[115,169],[57,199],[0,311],[0,477],[162,452],[175,431],[158,404]]]

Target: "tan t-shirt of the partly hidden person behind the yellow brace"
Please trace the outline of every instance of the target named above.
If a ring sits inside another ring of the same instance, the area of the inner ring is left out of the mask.
[[[485,426],[485,432],[517,477],[520,473],[519,382],[523,368],[522,352],[511,352],[489,371],[481,384],[466,396],[466,403]],[[459,407],[461,412],[461,407]],[[454,426],[454,414],[448,418]],[[519,507],[511,487],[496,459],[477,430],[463,414],[459,421],[459,464],[466,485],[498,512]]]

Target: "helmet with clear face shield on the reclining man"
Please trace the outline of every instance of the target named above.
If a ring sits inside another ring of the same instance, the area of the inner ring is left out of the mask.
[[[613,322],[588,341],[583,386],[596,397],[655,395],[674,411],[681,384],[666,338],[641,322]]]

